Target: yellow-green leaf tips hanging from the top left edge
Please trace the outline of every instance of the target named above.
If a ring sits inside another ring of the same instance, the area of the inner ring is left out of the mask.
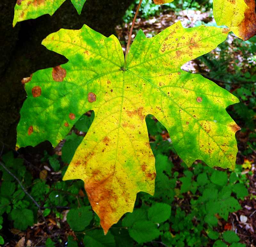
[[[71,0],[80,15],[86,0]],[[65,0],[17,0],[14,7],[14,18],[12,26],[17,22],[36,19],[37,17],[50,14],[52,15]]]

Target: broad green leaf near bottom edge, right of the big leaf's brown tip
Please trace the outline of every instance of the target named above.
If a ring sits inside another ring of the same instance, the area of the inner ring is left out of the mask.
[[[153,222],[141,220],[134,223],[129,234],[138,243],[145,243],[157,238],[161,232]]]

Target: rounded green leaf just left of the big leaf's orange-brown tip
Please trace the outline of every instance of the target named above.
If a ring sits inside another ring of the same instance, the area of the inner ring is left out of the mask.
[[[73,231],[83,231],[92,220],[91,206],[70,209],[67,215],[67,222]]]

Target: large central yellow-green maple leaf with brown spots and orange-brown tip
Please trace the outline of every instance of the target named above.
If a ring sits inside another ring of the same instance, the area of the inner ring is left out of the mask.
[[[84,181],[105,233],[132,212],[139,191],[154,194],[147,114],[167,128],[188,166],[201,159],[209,166],[233,168],[240,128],[225,108],[238,99],[180,69],[226,37],[222,28],[183,28],[180,22],[151,39],[140,30],[125,61],[114,35],[107,38],[86,25],[60,29],[42,44],[69,61],[23,80],[28,98],[20,111],[17,146],[44,140],[56,146],[84,112],[93,110],[92,125],[63,179]]]

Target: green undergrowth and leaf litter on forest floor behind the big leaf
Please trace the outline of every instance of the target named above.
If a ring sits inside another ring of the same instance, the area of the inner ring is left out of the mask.
[[[115,29],[124,51],[138,2],[130,5]],[[184,27],[215,26],[212,1],[175,0],[159,6],[143,0],[132,37],[139,29],[153,37],[178,20]],[[148,115],[149,141],[156,157],[155,195],[139,193],[134,212],[125,214],[104,236],[83,182],[62,181],[92,123],[93,112],[86,112],[56,148],[45,142],[2,155],[1,246],[256,246],[255,63],[256,36],[242,41],[230,33],[215,50],[182,66],[240,100],[227,109],[242,128],[236,134],[239,151],[234,171],[218,164],[210,168],[201,161],[188,168],[172,147],[172,133]]]

